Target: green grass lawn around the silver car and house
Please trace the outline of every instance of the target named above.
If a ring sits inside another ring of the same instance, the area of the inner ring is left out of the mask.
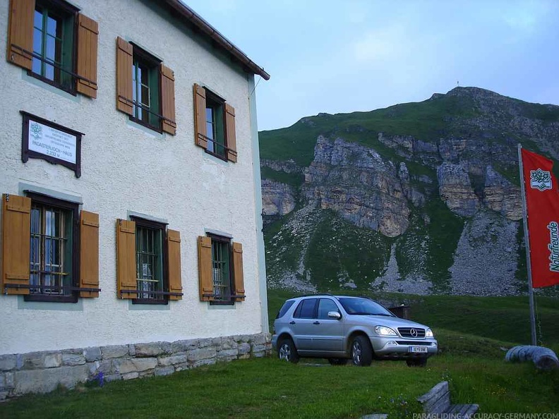
[[[270,291],[270,320],[289,295]],[[356,368],[307,358],[297,365],[237,360],[24,396],[1,403],[0,418],[359,418],[375,412],[406,418],[421,411],[416,397],[443,379],[454,403],[479,403],[484,413],[559,412],[559,371],[504,361],[503,348],[527,343],[524,298],[409,298],[412,317],[433,327],[443,350],[426,368],[390,361]],[[538,302],[542,335],[557,351],[559,300]]]

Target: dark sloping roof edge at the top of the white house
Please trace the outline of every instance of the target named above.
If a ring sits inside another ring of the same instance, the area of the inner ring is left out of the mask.
[[[180,0],[165,0],[165,3],[179,13],[182,18],[198,28],[200,32],[214,41],[219,47],[232,54],[237,61],[248,68],[253,74],[260,75],[264,80],[270,80],[270,74],[266,73],[263,67],[258,66],[257,63],[249,59],[243,51],[235,47],[232,42],[227,40],[217,29],[206,22],[202,16],[198,15],[198,13],[193,11],[190,7],[186,6],[186,4],[182,3]]]

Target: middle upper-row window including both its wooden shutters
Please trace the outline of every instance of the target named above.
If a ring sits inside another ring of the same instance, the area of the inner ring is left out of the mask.
[[[176,133],[174,73],[160,59],[116,38],[116,109],[157,132]]]

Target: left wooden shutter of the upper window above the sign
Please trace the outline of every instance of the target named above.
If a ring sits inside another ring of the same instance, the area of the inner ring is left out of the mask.
[[[6,59],[31,70],[35,0],[10,0]]]

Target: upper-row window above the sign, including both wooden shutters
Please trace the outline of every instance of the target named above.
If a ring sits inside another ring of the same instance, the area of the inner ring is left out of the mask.
[[[13,0],[7,59],[66,92],[97,97],[95,20],[64,0]]]

